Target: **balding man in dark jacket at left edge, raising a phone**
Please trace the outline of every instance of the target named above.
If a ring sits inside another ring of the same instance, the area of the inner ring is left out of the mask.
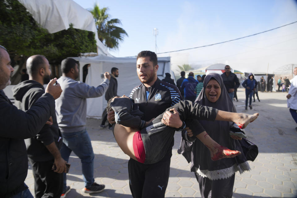
[[[50,115],[55,112],[55,99],[62,89],[49,82],[45,93],[27,111],[18,110],[6,97],[3,89],[10,84],[14,69],[10,57],[0,45],[0,197],[23,196],[32,198],[24,183],[28,172],[28,158],[24,139],[36,136]]]

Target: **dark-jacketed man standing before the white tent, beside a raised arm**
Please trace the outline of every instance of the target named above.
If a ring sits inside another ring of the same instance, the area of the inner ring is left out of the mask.
[[[118,68],[116,68],[116,67],[111,68],[109,86],[105,93],[106,101],[109,101],[110,98],[118,95],[118,81],[116,79],[117,77],[118,77]],[[105,111],[104,117],[102,118],[102,122],[100,125],[101,128],[106,128],[106,126],[105,126],[106,120],[107,120],[107,112]],[[108,129],[111,130],[110,123],[108,123]]]

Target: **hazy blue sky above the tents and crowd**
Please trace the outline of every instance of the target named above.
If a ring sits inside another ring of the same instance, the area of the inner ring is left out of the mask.
[[[88,9],[95,3],[108,7],[112,18],[122,21],[125,37],[116,57],[135,56],[141,50],[155,51],[153,28],[158,28],[157,53],[227,41],[297,21],[297,2],[261,1],[94,1],[74,0]],[[269,71],[297,64],[297,23],[254,37],[170,56],[174,72],[177,65],[205,67],[229,64],[242,71]]]

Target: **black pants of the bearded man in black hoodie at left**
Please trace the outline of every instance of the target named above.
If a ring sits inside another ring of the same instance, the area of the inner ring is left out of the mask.
[[[54,160],[34,161],[28,158],[34,176],[35,198],[60,198],[63,190],[63,174],[52,170]]]

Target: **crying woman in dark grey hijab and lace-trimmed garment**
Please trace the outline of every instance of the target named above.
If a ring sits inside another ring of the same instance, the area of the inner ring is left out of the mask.
[[[222,77],[217,73],[210,73],[205,77],[203,89],[195,102],[218,110],[236,112]],[[217,143],[243,153],[239,141],[235,140],[238,138],[230,138],[229,128],[232,123],[206,120],[199,120],[199,122]],[[250,170],[246,157],[241,154],[234,158],[213,161],[204,144],[200,141],[190,143],[186,139],[188,138],[182,139],[178,152],[182,153],[188,162],[191,161],[191,171],[195,172],[202,198],[232,197],[235,172],[243,173]]]

